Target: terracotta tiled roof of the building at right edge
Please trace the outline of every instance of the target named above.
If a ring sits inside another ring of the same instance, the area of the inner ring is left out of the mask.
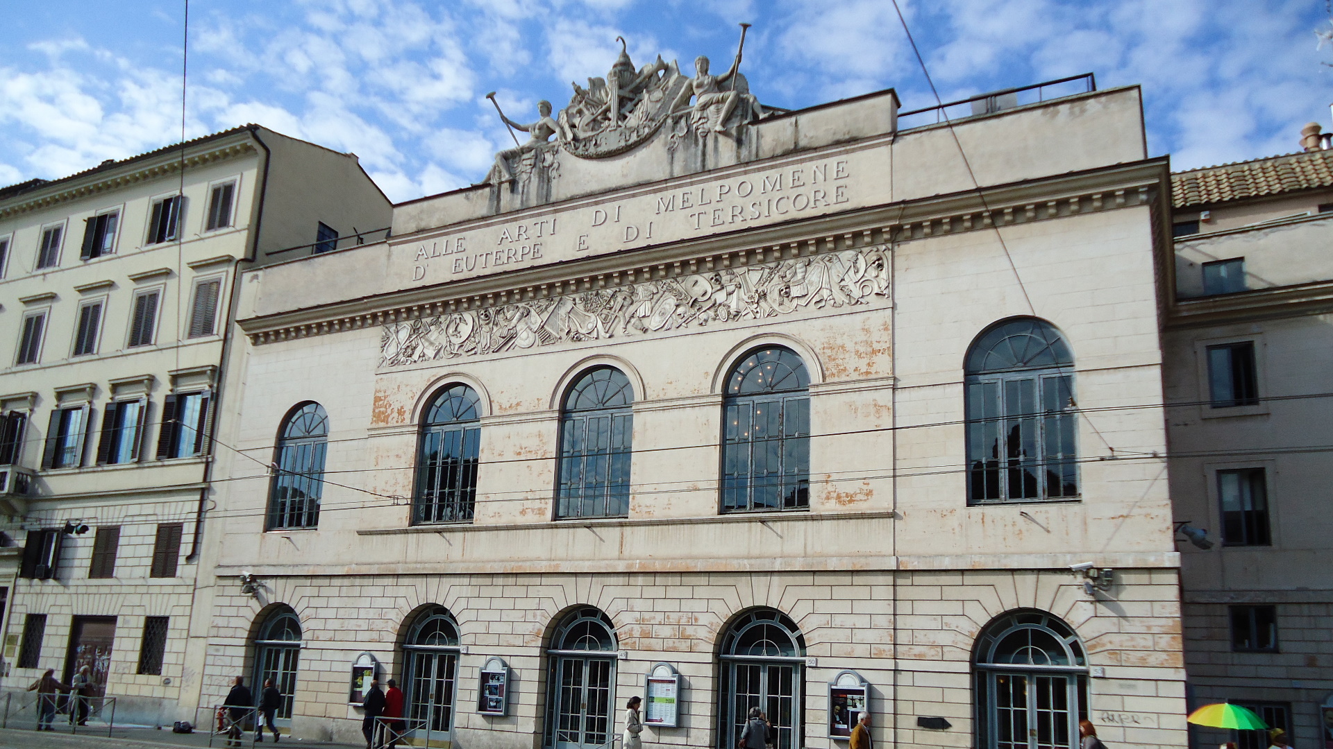
[[[1288,153],[1170,176],[1172,205],[1188,208],[1333,187],[1333,151]]]

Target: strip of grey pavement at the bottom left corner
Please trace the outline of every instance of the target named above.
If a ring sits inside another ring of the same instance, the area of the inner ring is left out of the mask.
[[[249,736],[245,737],[244,749],[249,749]],[[255,744],[256,748],[265,746],[271,749],[288,745],[319,746],[321,749],[364,749],[364,745],[301,741],[287,736],[276,745],[272,742],[271,736],[265,736],[263,744]],[[77,734],[69,733],[68,724],[57,724],[56,730],[39,733],[31,728],[13,728],[11,722],[9,728],[0,729],[0,746],[13,746],[17,749],[200,749],[208,746],[208,732],[172,733],[171,726],[163,729],[116,726],[111,730],[111,737],[108,737],[107,724],[93,724],[93,721],[88,721],[88,725],[80,728]],[[225,749],[227,737],[213,737],[213,748]]]

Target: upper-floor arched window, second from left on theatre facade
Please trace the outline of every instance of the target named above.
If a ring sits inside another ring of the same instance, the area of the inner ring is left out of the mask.
[[[469,522],[477,501],[481,398],[445,385],[425,409],[417,445],[412,522]]]

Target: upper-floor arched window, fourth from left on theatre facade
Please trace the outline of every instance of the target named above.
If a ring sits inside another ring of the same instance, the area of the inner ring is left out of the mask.
[[[741,357],[722,400],[722,512],[810,506],[810,376],[790,349]]]

